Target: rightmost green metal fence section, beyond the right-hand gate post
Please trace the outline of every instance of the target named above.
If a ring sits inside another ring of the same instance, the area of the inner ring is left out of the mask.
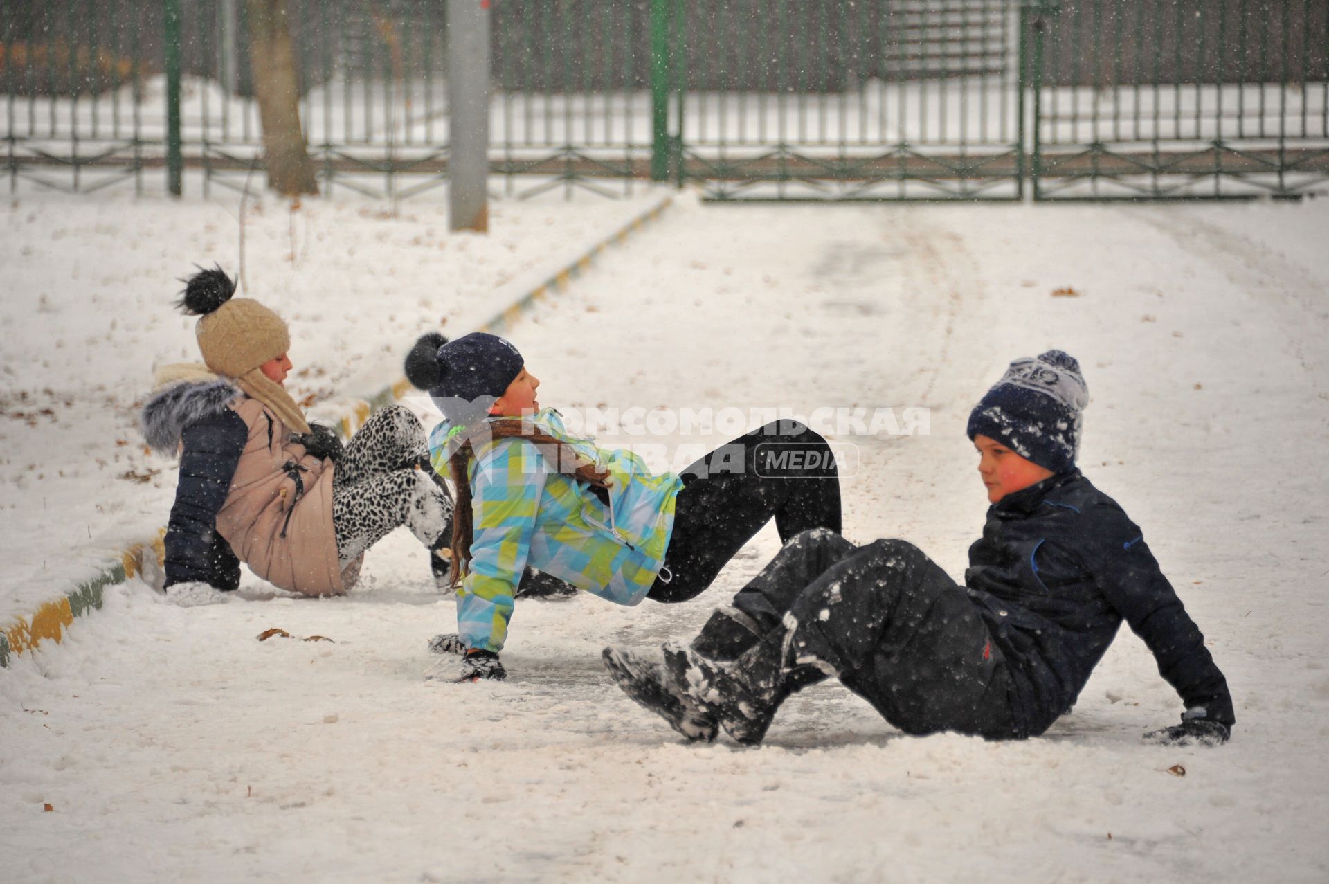
[[[1035,199],[1298,195],[1329,179],[1329,3],[1039,4]]]

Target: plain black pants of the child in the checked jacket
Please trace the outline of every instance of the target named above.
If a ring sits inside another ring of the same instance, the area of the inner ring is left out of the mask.
[[[827,440],[796,420],[739,436],[683,471],[664,568],[647,593],[684,602],[775,518],[780,542],[840,530],[840,473]]]

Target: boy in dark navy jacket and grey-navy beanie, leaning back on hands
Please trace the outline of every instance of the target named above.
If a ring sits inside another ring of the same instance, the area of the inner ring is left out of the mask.
[[[780,703],[831,675],[909,734],[1035,736],[1074,703],[1124,619],[1180,694],[1181,723],[1147,736],[1217,744],[1227,681],[1140,529],[1075,468],[1088,401],[1061,351],[1019,359],[969,437],[991,506],[957,585],[916,546],[812,530],[664,658],[607,647],[635,701],[690,739],[759,743]]]

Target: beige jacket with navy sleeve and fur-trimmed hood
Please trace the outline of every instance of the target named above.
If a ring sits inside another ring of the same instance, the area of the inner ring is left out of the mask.
[[[346,592],[332,526],[331,461],[306,453],[263,403],[197,367],[170,367],[144,407],[148,444],[181,452],[166,529],[166,585],[239,584],[238,557],[306,596]],[[231,553],[230,557],[221,552]]]

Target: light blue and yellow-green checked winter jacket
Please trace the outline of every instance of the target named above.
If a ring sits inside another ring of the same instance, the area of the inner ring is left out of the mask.
[[[533,443],[476,444],[469,467],[472,558],[457,590],[457,631],[466,647],[502,649],[528,564],[618,605],[638,604],[655,582],[674,530],[683,487],[678,476],[653,475],[630,451],[601,449],[569,435],[553,408],[532,420],[609,472],[607,504],[586,483],[560,473]],[[444,476],[455,451],[451,429],[445,420],[429,433],[431,463]]]

